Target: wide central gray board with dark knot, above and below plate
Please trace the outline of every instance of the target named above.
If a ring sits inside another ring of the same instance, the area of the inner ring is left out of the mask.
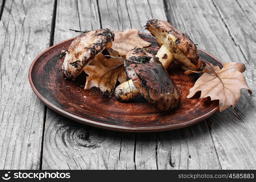
[[[162,1],[100,1],[99,7],[96,1],[67,3],[58,1],[55,43],[78,35],[68,32],[70,27],[140,29],[150,11],[150,18],[167,19]],[[91,13],[84,6],[91,7]],[[42,169],[220,169],[220,165],[206,122],[182,130],[134,134],[84,126],[48,109]]]

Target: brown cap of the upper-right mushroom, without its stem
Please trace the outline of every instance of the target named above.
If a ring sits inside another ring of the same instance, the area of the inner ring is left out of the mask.
[[[169,22],[162,20],[149,20],[146,24],[146,28],[156,37],[160,46],[167,44],[166,47],[174,54],[178,62],[192,70],[200,69],[201,60],[199,52],[189,36],[179,31]],[[173,35],[174,40],[172,40],[170,36],[168,37],[170,34]]]

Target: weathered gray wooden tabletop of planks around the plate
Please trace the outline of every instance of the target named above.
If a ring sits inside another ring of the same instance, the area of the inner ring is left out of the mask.
[[[0,0],[0,169],[256,169],[255,0]],[[123,133],[78,124],[30,88],[33,59],[68,29],[169,20],[222,62],[241,62],[254,94],[191,127]]]

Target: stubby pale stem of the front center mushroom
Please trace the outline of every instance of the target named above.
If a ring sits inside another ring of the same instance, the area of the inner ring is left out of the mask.
[[[114,91],[114,95],[118,100],[122,102],[127,102],[139,96],[140,92],[130,79],[127,82],[123,82],[120,85],[118,85],[116,87],[116,90]]]

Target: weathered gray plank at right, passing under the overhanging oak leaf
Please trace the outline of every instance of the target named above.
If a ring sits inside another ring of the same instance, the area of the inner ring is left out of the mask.
[[[250,22],[235,1],[182,0],[168,1],[167,5],[171,23],[187,32],[199,47],[222,62],[244,63],[249,87],[255,91],[252,60],[255,54],[255,37],[252,35],[255,31],[253,26],[248,26]],[[246,45],[250,48],[246,49]],[[208,119],[222,169],[255,169],[255,160],[251,160],[256,154],[254,103],[255,96],[243,91],[234,110],[229,108]]]

